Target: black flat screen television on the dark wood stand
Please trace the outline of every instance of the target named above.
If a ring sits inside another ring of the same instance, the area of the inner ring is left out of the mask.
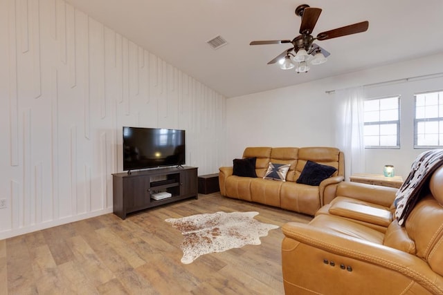
[[[185,164],[185,131],[123,126],[123,170]]]

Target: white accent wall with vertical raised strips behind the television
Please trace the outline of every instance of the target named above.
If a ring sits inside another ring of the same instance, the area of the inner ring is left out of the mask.
[[[122,126],[224,160],[226,99],[63,0],[0,0],[0,239],[112,211]]]

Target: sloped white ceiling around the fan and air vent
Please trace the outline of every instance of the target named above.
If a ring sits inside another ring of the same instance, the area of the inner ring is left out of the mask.
[[[66,0],[226,97],[291,86],[443,52],[442,0]],[[322,8],[313,35],[369,21],[367,32],[316,41],[331,53],[309,73],[266,63],[290,44],[303,3]],[[221,35],[228,45],[206,41]]]

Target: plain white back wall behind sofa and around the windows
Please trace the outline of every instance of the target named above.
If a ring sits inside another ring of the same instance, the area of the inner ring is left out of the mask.
[[[441,73],[442,69],[443,54],[438,54],[230,98],[224,164],[232,165],[246,146],[335,146],[335,133],[340,130],[334,126],[334,94],[326,91]],[[321,66],[311,70],[321,70]],[[366,97],[401,95],[401,149],[366,149],[365,172],[382,173],[384,164],[393,164],[397,175],[406,178],[410,164],[423,151],[413,149],[413,93],[442,89],[441,77],[365,87]]]

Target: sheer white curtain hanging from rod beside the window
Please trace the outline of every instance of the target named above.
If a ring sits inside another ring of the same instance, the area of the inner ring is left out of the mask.
[[[336,146],[345,154],[345,179],[365,172],[363,86],[335,91]]]

